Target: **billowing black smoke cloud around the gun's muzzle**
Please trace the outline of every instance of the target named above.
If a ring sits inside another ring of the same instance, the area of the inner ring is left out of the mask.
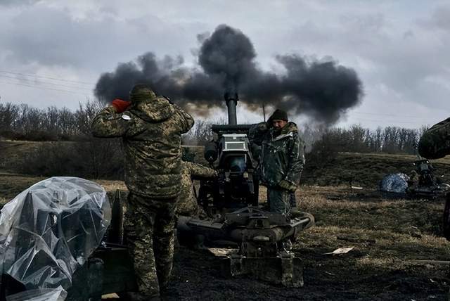
[[[240,30],[220,25],[206,37],[198,51],[198,68],[186,68],[183,58],[151,53],[139,56],[136,63],[120,63],[114,72],[101,75],[95,94],[105,102],[127,99],[136,83],[148,83],[158,94],[180,105],[206,108],[224,106],[225,91],[237,92],[249,108],[262,103],[304,113],[319,122],[333,123],[349,108],[359,104],[362,84],[356,72],[335,60],[307,60],[295,54],[276,56],[283,74],[258,68],[252,42]]]

